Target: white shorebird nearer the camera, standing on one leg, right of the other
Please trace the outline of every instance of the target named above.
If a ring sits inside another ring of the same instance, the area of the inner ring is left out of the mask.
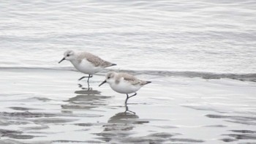
[[[116,72],[108,72],[105,76],[105,80],[99,84],[102,86],[104,83],[109,83],[110,87],[121,94],[127,94],[127,99],[125,100],[125,104],[127,104],[127,100],[132,96],[135,96],[141,87],[144,85],[151,83],[151,81],[139,80],[138,78],[129,75],[127,73],[116,73]],[[128,94],[135,93],[132,96]]]

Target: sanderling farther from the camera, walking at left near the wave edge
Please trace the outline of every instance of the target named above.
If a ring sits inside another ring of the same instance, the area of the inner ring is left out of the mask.
[[[88,74],[89,77],[87,82],[89,82],[89,78],[95,73],[106,67],[116,65],[108,61],[104,61],[102,58],[99,58],[91,53],[75,53],[73,50],[67,50],[64,53],[64,58],[62,58],[61,61],[64,60],[70,61],[74,65],[75,69],[78,69],[78,71]],[[61,63],[61,61],[59,61],[59,63]],[[80,77],[79,80],[82,80],[83,78],[85,77]]]

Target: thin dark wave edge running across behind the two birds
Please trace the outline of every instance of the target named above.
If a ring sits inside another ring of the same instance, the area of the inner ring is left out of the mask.
[[[15,69],[24,69],[24,70],[57,70],[57,71],[76,71],[72,67],[0,67],[1,70],[15,70]],[[167,77],[201,77],[203,79],[221,79],[229,78],[233,80],[241,81],[252,81],[256,82],[256,73],[245,73],[245,74],[236,74],[236,73],[214,73],[214,72],[192,72],[192,71],[161,71],[161,70],[129,70],[129,69],[105,69],[102,72],[97,73],[97,75],[105,75],[105,72],[109,70],[118,71],[118,72],[128,72],[134,75],[161,75]]]

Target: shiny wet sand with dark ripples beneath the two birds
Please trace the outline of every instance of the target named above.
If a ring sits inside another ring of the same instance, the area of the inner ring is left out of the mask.
[[[104,72],[1,69],[0,143],[255,143],[256,83],[135,72],[124,106]]]

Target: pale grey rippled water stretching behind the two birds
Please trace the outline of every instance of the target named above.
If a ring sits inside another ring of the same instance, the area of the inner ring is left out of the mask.
[[[256,2],[1,1],[0,67],[87,50],[116,69],[255,73]]]

